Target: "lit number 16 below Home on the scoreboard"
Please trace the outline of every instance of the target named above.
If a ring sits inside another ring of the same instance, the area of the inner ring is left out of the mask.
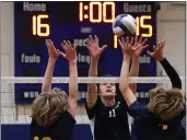
[[[43,20],[48,19],[47,14],[39,14],[39,15],[33,15],[32,22],[33,22],[33,35],[37,36],[49,36],[50,34],[50,27],[49,24],[43,23]],[[45,32],[42,32],[43,30]]]

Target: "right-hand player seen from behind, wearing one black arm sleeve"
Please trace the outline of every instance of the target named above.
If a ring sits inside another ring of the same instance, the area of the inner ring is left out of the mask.
[[[129,38],[119,40],[124,51],[124,61],[120,72],[119,89],[129,106],[129,114],[135,121],[131,130],[132,140],[182,140],[185,139],[185,130],[182,119],[185,116],[184,93],[182,81],[163,55],[165,42],[160,42],[149,56],[155,57],[172,81],[172,89],[155,88],[150,91],[148,106],[141,105],[129,89],[129,63],[137,47],[129,43]],[[126,110],[125,110],[126,112]]]

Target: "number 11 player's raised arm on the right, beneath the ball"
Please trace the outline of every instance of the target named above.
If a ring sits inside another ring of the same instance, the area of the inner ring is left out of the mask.
[[[142,50],[147,47],[147,38],[143,39],[142,36],[138,39],[138,36],[135,38],[135,47],[138,47],[137,50],[132,54],[132,63],[130,68],[130,77],[138,77],[139,74],[139,59]],[[130,83],[129,89],[135,93],[137,91],[137,83]]]

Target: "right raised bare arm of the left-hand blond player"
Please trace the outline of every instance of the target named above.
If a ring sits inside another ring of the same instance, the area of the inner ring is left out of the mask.
[[[69,60],[69,113],[75,117],[77,102],[78,102],[78,68],[77,68],[77,50],[75,46],[70,42],[63,42],[61,44],[66,54],[61,52],[61,56]]]

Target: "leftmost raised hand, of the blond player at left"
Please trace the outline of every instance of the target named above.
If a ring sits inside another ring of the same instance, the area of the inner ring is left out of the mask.
[[[59,49],[55,48],[55,45],[50,39],[46,39],[46,46],[47,46],[49,59],[57,60],[57,58],[60,56]]]

